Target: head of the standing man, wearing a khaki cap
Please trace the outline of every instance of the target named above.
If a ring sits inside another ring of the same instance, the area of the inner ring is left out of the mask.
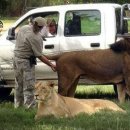
[[[40,32],[41,29],[46,26],[46,20],[42,17],[36,17],[33,20],[33,29],[34,32]]]

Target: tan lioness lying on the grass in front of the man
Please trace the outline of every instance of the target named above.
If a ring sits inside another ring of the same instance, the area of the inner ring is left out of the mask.
[[[35,85],[35,99],[38,101],[38,111],[35,119],[42,116],[72,117],[79,113],[92,114],[101,109],[125,112],[114,102],[101,99],[75,99],[64,97],[54,89],[52,82],[38,82]]]

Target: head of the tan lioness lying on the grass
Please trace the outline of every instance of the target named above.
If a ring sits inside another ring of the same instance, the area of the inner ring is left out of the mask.
[[[39,81],[35,85],[34,96],[38,101],[46,101],[51,96],[51,91],[54,87],[54,82],[52,81]]]

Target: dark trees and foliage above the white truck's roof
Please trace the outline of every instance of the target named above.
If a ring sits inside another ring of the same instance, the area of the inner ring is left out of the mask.
[[[30,7],[73,3],[128,3],[128,0],[0,0],[0,16],[20,16]]]

